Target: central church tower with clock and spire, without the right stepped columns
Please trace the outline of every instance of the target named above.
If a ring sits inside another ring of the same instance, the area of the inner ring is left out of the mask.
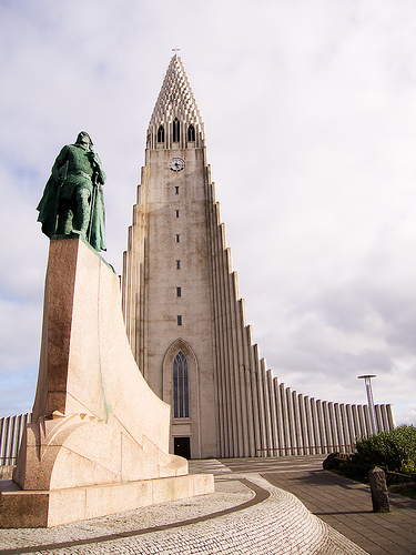
[[[171,448],[195,458],[217,453],[209,181],[203,122],[174,56],[148,129],[124,312],[139,367],[172,406]]]

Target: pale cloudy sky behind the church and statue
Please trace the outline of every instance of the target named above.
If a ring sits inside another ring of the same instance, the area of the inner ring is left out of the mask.
[[[35,206],[88,131],[105,260],[126,249],[146,128],[181,49],[247,323],[305,395],[416,424],[416,3],[0,0],[0,417],[30,412],[49,240]]]

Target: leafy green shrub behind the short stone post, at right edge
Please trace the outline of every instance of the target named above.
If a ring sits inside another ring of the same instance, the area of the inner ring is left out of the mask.
[[[356,442],[357,464],[386,466],[393,472],[410,474],[416,470],[416,427],[403,425],[388,432],[378,432]]]

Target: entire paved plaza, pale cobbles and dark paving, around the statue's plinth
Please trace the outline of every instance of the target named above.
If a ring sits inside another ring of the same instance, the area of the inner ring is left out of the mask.
[[[416,502],[392,495],[392,513],[374,514],[369,488],[323,471],[324,458],[191,461],[191,472],[214,473],[214,494],[2,529],[0,554],[415,554]]]

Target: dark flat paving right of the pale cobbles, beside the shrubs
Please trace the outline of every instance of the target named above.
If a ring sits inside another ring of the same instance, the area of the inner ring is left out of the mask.
[[[224,461],[230,470],[258,472],[291,492],[314,515],[372,555],[416,554],[416,501],[390,494],[390,513],[373,513],[369,487],[322,470],[321,455]],[[272,462],[273,461],[273,462]],[[314,464],[314,461],[318,463]]]

